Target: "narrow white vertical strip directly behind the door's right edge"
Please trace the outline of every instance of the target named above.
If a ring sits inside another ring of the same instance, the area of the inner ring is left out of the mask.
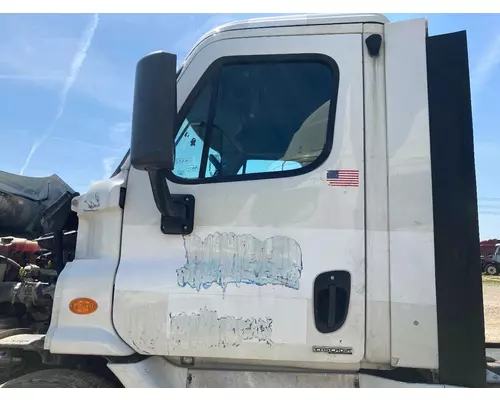
[[[387,128],[385,114],[384,26],[365,24],[364,40],[382,36],[378,57],[363,48],[365,83],[366,191],[366,361],[389,364],[391,359],[391,299],[389,287],[389,209]]]

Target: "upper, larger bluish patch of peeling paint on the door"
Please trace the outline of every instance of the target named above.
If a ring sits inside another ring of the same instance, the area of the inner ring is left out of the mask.
[[[186,264],[177,270],[179,286],[198,291],[216,284],[223,289],[240,283],[299,288],[302,251],[285,236],[261,242],[252,235],[215,233],[204,241],[196,235],[184,237]]]

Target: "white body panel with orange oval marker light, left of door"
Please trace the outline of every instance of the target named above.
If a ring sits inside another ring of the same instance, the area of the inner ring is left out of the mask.
[[[73,200],[78,214],[75,260],[68,263],[56,286],[53,315],[45,349],[54,354],[126,356],[134,351],[116,334],[111,320],[113,284],[120,259],[122,216],[120,189],[128,171],[94,183]],[[73,314],[71,300],[90,297],[98,303],[89,315]]]

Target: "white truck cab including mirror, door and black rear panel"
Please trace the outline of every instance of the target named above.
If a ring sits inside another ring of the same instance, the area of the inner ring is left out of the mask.
[[[130,153],[71,200],[43,349],[126,387],[482,386],[473,163],[465,35],[424,19],[257,19],[178,71],[148,55]]]

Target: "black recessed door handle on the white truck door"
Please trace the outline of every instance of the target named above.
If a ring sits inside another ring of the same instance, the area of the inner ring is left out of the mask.
[[[332,333],[344,325],[349,311],[351,274],[328,271],[314,281],[314,320],[321,333]]]

